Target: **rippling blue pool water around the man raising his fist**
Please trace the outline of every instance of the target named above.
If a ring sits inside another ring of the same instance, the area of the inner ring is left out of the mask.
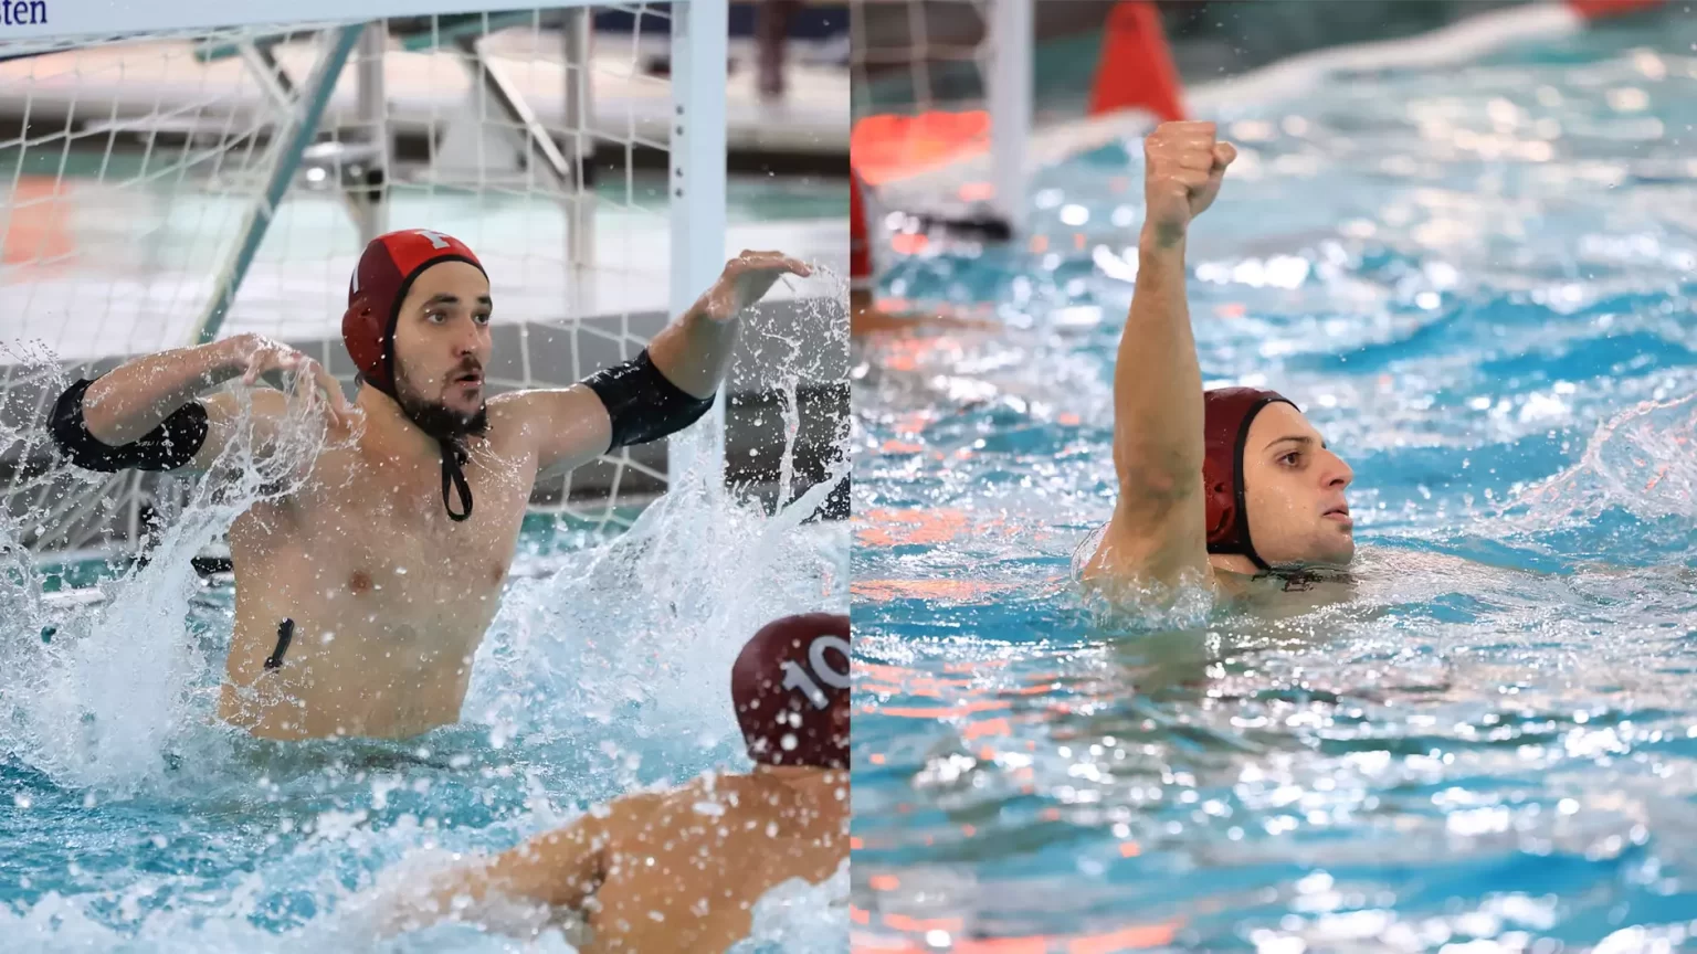
[[[1203,375],[1354,467],[1356,584],[1176,628],[1071,579],[1139,141],[1037,177],[1037,244],[896,263],[1008,328],[855,356],[855,930],[1697,944],[1694,17],[1203,119],[1244,156],[1190,241]]]

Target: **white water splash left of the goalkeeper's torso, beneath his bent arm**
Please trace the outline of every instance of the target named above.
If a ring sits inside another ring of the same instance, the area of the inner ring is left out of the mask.
[[[66,382],[58,367],[48,368],[34,377],[49,392],[61,390]],[[0,650],[0,699],[10,716],[0,728],[0,750],[58,784],[131,794],[163,776],[173,749],[216,744],[221,735],[202,728],[197,711],[195,687],[212,664],[187,626],[199,591],[190,558],[249,506],[294,492],[305,479],[305,463],[326,446],[314,402],[297,382],[285,384],[287,411],[270,453],[255,452],[251,394],[234,394],[243,424],[207,474],[192,479],[183,504],[161,497],[163,530],[143,543],[148,560],[100,582],[104,599],[49,606],[17,521],[0,525],[0,545],[10,558],[0,601],[15,609],[5,616],[14,633]],[[46,426],[8,436],[44,441]],[[104,479],[58,463],[36,484],[75,496]]]

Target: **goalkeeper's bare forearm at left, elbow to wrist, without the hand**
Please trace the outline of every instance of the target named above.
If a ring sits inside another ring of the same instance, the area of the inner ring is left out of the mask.
[[[83,423],[104,445],[131,443],[202,390],[241,373],[227,341],[127,362],[88,385]]]

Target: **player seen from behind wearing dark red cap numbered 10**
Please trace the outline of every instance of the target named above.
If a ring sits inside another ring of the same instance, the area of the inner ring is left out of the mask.
[[[619,798],[494,859],[378,891],[368,910],[389,934],[445,917],[536,930],[580,912],[584,954],[706,954],[748,937],[760,896],[848,861],[848,616],[762,628],[731,667],[731,699],[753,772]]]

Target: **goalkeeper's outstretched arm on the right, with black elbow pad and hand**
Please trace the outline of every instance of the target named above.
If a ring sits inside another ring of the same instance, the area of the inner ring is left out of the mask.
[[[628,445],[687,428],[720,389],[736,317],[784,275],[811,275],[776,251],[745,251],[677,321],[648,341],[645,355],[563,390],[524,390],[490,399],[529,438],[538,469],[580,467]]]

